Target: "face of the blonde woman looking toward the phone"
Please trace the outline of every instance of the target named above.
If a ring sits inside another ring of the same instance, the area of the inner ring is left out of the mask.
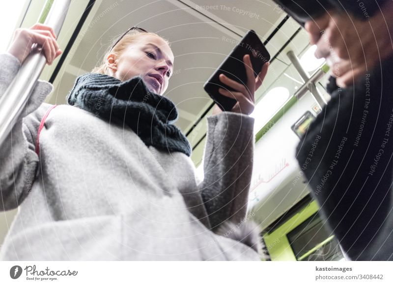
[[[108,66],[113,77],[126,81],[140,76],[151,92],[163,95],[172,75],[173,60],[167,42],[155,35],[141,34],[119,58],[109,55]]]

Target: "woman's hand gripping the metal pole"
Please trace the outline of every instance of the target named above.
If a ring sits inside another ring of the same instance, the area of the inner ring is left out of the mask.
[[[18,28],[15,30],[14,38],[7,52],[15,56],[21,63],[31,52],[33,44],[38,44],[44,51],[46,61],[49,65],[61,54],[56,42],[54,30],[44,24],[35,24],[29,29]]]

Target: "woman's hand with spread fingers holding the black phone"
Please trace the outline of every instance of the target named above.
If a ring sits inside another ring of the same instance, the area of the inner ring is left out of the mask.
[[[224,74],[220,74],[220,81],[225,85],[229,86],[230,88],[234,89],[234,91],[219,88],[219,92],[221,95],[237,100],[237,103],[235,104],[235,106],[233,106],[231,112],[250,115],[254,110],[254,93],[262,85],[262,81],[265,78],[269,67],[269,62],[263,65],[261,72],[259,72],[256,78],[254,76],[253,65],[251,63],[250,55],[246,54],[243,57],[243,62],[246,67],[247,86],[240,84],[235,80],[229,79]],[[215,104],[213,109],[213,115],[221,112],[222,111],[220,107]]]

